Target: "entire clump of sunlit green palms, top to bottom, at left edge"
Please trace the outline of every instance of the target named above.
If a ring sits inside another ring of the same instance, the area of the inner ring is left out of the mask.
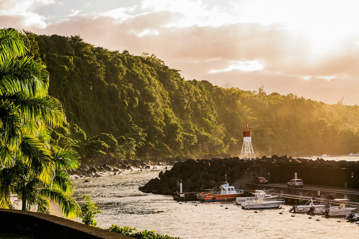
[[[24,34],[0,29],[0,207],[11,207],[10,194],[18,193],[24,210],[49,213],[53,200],[74,217],[78,205],[64,170],[78,167],[79,156],[71,149],[51,153],[41,129],[66,123],[66,116],[48,96],[46,66],[26,56],[29,50]]]

